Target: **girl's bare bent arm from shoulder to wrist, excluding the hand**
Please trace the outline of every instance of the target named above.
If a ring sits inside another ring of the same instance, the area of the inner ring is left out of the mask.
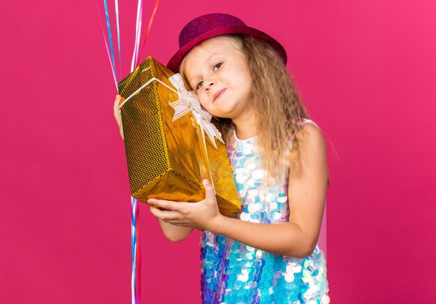
[[[298,169],[289,176],[289,222],[258,224],[221,218],[213,232],[261,250],[290,257],[307,257],[316,247],[324,212],[328,169],[322,132],[304,124]]]

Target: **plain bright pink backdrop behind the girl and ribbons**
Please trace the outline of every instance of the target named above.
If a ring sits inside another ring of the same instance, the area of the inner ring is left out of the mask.
[[[125,76],[136,4],[119,2]],[[95,5],[3,6],[0,301],[129,303],[127,169]],[[142,58],[166,63],[182,26],[215,12],[283,43],[325,131],[332,303],[434,303],[435,2],[161,0]],[[198,232],[170,243],[144,205],[140,221],[143,303],[198,303]]]

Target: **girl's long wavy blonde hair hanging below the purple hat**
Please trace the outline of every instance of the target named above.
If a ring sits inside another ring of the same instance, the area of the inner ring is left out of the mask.
[[[299,92],[277,52],[264,41],[247,35],[223,35],[244,54],[252,78],[252,104],[260,158],[267,177],[278,178],[283,169],[296,167],[301,139],[302,118],[309,118]],[[215,37],[214,37],[215,38]],[[210,38],[213,39],[213,38]],[[200,43],[201,45],[201,43]],[[184,74],[185,61],[180,64],[180,75],[189,86]],[[231,119],[220,118],[226,143],[233,137],[235,125]]]

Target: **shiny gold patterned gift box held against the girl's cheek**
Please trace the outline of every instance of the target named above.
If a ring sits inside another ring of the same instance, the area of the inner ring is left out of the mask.
[[[118,84],[132,197],[198,202],[205,198],[203,178],[212,177],[219,211],[231,215],[240,204],[226,146],[203,140],[191,112],[173,121],[169,102],[179,99],[170,89],[173,75],[149,56]]]

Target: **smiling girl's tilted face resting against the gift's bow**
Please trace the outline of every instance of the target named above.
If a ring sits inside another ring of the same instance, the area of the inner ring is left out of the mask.
[[[185,76],[210,114],[238,119],[251,101],[251,76],[244,54],[224,37],[205,40],[185,61]]]

